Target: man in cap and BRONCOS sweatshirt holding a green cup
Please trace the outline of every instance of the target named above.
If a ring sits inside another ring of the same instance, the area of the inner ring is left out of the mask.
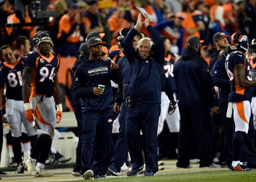
[[[118,65],[100,58],[104,43],[98,37],[87,41],[90,54],[78,66],[73,88],[80,96],[83,115],[81,164],[84,179],[105,178],[111,158],[113,98],[110,80],[118,78],[117,71],[112,71]],[[104,85],[104,90],[98,85]]]

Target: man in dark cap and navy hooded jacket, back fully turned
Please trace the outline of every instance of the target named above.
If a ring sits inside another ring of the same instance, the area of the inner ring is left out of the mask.
[[[194,135],[199,150],[199,167],[215,167],[209,114],[209,108],[214,108],[214,96],[209,67],[207,62],[200,57],[203,51],[201,46],[198,37],[189,37],[187,47],[173,70],[180,113],[178,161],[176,163],[178,168],[189,168]]]

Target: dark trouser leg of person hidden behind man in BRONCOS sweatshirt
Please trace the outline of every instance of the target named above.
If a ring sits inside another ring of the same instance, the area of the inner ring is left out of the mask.
[[[76,164],[74,164],[73,171],[74,172],[79,172],[82,171],[81,167],[81,152],[82,152],[82,143],[83,143],[83,138],[82,138],[82,131],[83,131],[83,120],[82,120],[82,109],[79,109],[74,112],[74,115],[77,119],[78,123],[78,146],[77,146],[77,159],[76,159]]]

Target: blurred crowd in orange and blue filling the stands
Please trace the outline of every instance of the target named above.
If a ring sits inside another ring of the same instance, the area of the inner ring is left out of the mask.
[[[97,31],[106,34],[102,41],[106,41],[110,49],[116,45],[120,29],[134,26],[137,7],[147,11],[153,20],[150,25],[170,39],[172,52],[178,55],[182,54],[190,36],[205,41],[209,57],[208,50],[214,47],[212,37],[216,32],[232,35],[242,31],[250,40],[256,37],[255,0],[44,0],[39,10],[56,12],[44,20],[33,12],[32,2],[0,1],[0,46],[13,45],[21,35],[32,39],[35,32],[49,30],[55,53],[76,56],[87,34]],[[147,34],[145,29],[141,31]]]

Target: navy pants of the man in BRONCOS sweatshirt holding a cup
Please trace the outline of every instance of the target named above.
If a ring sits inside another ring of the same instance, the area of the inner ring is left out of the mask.
[[[108,120],[112,116],[112,112],[83,112],[83,172],[93,170],[95,175],[106,174],[111,159],[113,127]]]

